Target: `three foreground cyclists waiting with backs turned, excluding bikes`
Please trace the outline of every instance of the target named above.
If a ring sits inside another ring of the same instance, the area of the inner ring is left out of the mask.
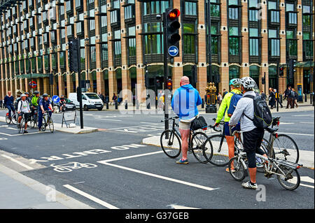
[[[260,149],[265,129],[259,128],[254,122],[254,98],[257,96],[255,81],[250,77],[235,78],[230,80],[230,92],[225,94],[218,114],[216,124],[218,126],[224,119],[225,126],[223,133],[228,143],[229,158],[235,156],[234,137],[231,132],[241,131],[244,141],[244,152],[248,159],[248,172],[250,180],[242,183],[242,187],[247,189],[257,189],[256,183],[256,161],[255,153],[267,157],[265,152]],[[176,89],[172,99],[172,108],[174,113],[179,117],[179,131],[182,138],[182,157],[177,164],[188,164],[188,136],[190,131],[190,123],[199,116],[197,106],[202,103],[201,97],[197,89],[189,83],[189,78],[183,76],[181,78],[181,87]],[[232,129],[231,129],[232,128]],[[230,131],[231,129],[231,131]],[[226,169],[229,171],[229,168]],[[232,166],[232,171],[234,166]]]

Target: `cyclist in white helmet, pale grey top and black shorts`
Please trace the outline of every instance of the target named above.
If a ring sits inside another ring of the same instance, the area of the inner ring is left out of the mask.
[[[241,121],[241,131],[243,134],[244,152],[248,159],[248,171],[251,180],[241,184],[242,187],[248,189],[257,189],[256,184],[256,161],[255,153],[262,154],[267,157],[265,152],[260,149],[262,138],[264,136],[264,129],[258,129],[253,124],[254,105],[253,97],[256,96],[254,92],[255,81],[250,77],[241,78],[241,91],[243,97],[239,99],[235,111],[230,119],[230,126],[234,126]]]

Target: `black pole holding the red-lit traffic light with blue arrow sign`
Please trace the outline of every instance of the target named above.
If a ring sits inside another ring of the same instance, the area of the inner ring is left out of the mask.
[[[164,109],[164,117],[165,117],[165,130],[169,129],[169,105],[168,105],[168,91],[167,91],[167,78],[169,78],[169,69],[167,68],[167,13],[163,13],[163,52],[164,52],[164,91],[165,91],[165,109]],[[166,136],[168,138],[168,136]]]

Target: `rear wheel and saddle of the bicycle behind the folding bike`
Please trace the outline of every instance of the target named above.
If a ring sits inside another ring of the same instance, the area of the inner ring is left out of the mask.
[[[279,158],[297,163],[300,158],[299,148],[290,136],[276,133],[279,130],[279,124],[280,117],[274,117],[272,127],[266,129],[270,135],[269,139],[264,138],[263,141],[269,143],[269,155],[274,159]]]

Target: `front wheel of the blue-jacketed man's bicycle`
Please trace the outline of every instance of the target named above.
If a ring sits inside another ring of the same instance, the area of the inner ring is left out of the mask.
[[[168,136],[168,137],[167,137]],[[168,157],[176,158],[181,154],[181,139],[171,130],[165,130],[160,137],[161,148]]]

